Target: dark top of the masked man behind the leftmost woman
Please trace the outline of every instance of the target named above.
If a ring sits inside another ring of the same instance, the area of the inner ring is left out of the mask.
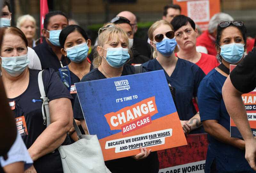
[[[59,60],[58,56],[52,51],[51,46],[45,41],[38,44],[33,48],[40,59],[42,69],[53,68],[55,71],[58,71],[61,68],[60,60],[63,66],[70,63],[70,59],[65,56],[62,56]]]

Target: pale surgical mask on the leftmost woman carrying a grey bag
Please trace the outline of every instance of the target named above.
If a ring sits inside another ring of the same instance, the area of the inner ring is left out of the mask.
[[[28,54],[1,58],[4,70],[14,77],[19,76],[29,64]]]

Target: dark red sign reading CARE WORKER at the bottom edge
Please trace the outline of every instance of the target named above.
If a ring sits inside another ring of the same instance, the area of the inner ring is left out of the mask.
[[[159,173],[204,173],[207,134],[191,134],[188,145],[157,151]]]

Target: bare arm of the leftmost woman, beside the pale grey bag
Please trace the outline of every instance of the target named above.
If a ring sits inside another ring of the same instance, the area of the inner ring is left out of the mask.
[[[61,108],[61,109],[60,109]],[[59,98],[49,102],[51,124],[38,136],[28,148],[33,161],[54,151],[65,140],[72,127],[73,111],[68,98]]]

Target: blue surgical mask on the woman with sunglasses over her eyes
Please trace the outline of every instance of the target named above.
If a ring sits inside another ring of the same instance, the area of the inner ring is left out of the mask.
[[[175,38],[169,39],[164,38],[164,40],[160,42],[156,42],[156,50],[160,52],[163,56],[171,56],[172,52],[174,51],[177,42]]]

